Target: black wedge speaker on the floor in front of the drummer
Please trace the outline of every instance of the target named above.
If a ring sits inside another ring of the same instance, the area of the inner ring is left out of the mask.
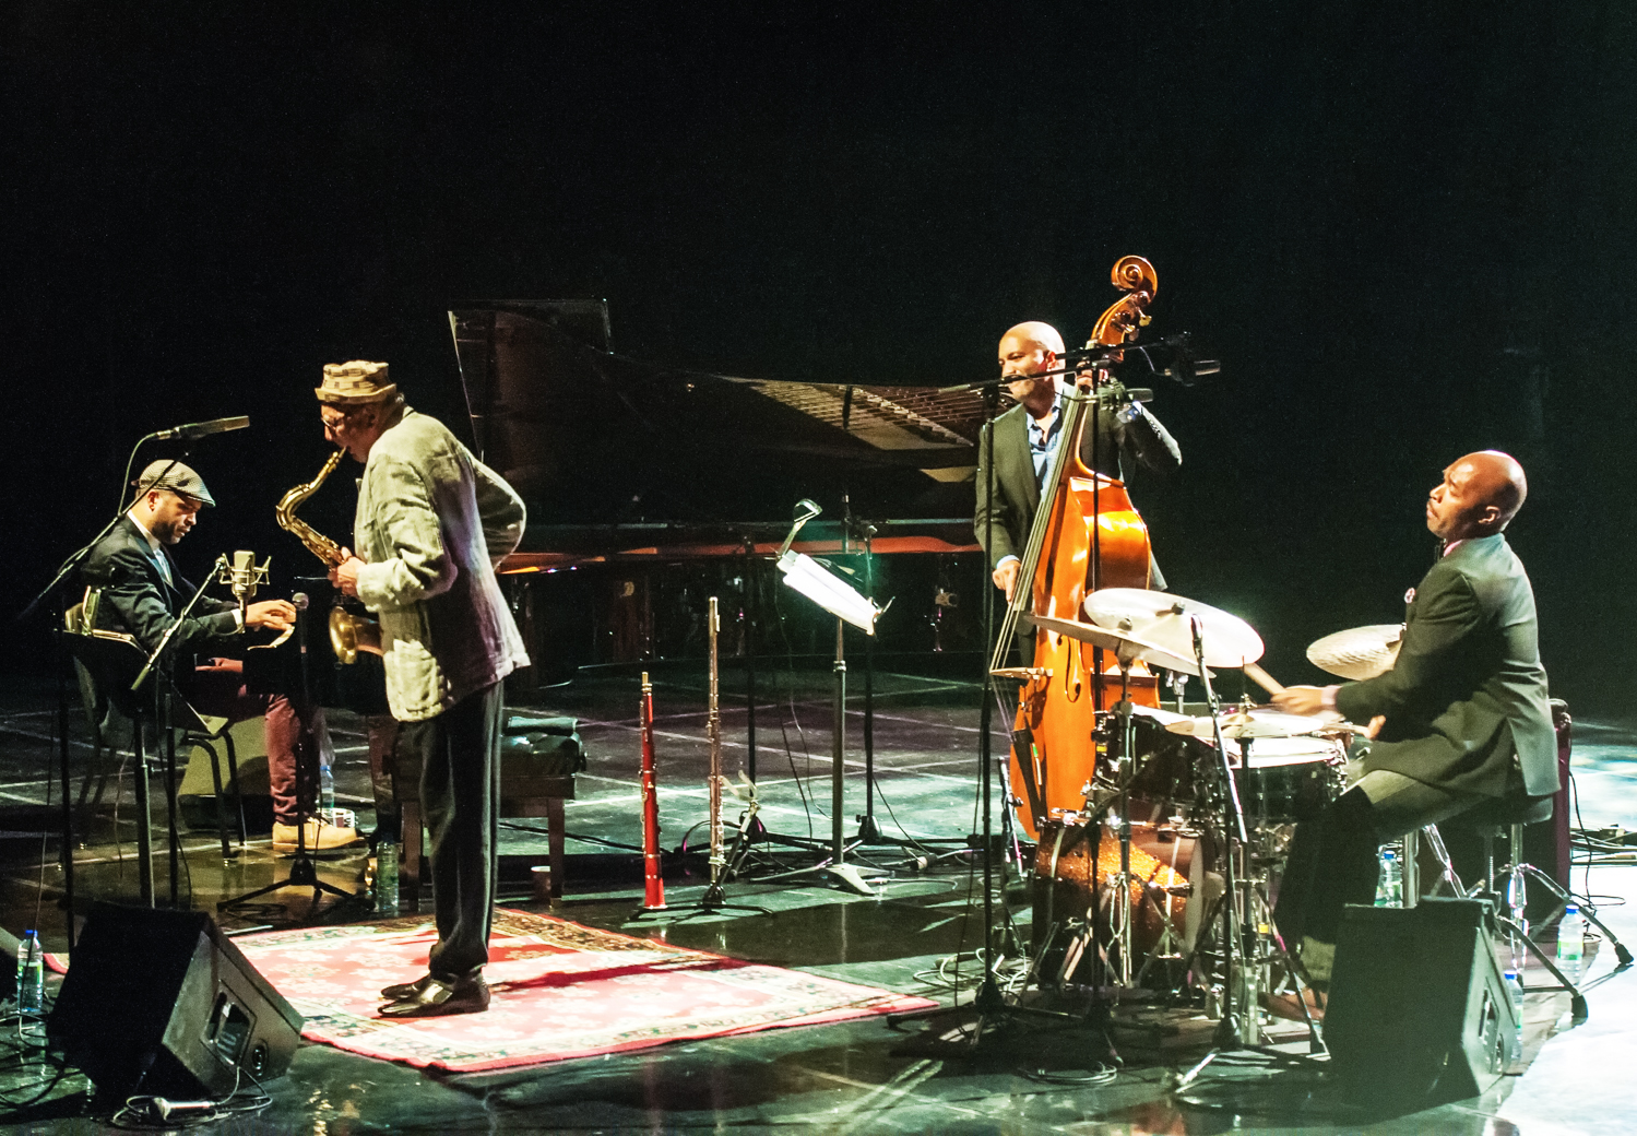
[[[1473,899],[1424,899],[1342,912],[1324,1041],[1351,1095],[1465,1100],[1504,1074],[1517,1018],[1486,908]]]

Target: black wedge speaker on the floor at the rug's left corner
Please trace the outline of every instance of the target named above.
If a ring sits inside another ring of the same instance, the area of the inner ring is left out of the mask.
[[[46,1033],[101,1093],[224,1097],[290,1069],[301,1015],[210,915],[97,904]]]

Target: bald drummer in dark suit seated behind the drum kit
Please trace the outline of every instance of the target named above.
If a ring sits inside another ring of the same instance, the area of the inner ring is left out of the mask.
[[[1364,776],[1313,822],[1297,825],[1275,922],[1318,990],[1326,990],[1342,905],[1375,894],[1377,850],[1498,797],[1557,792],[1557,742],[1537,645],[1534,591],[1503,530],[1527,494],[1506,453],[1468,453],[1427,499],[1444,545],[1408,596],[1393,669],[1362,683],[1293,686],[1287,714],[1339,710],[1370,722]],[[1274,995],[1274,1013],[1300,1017]],[[1323,995],[1310,994],[1323,1013]]]

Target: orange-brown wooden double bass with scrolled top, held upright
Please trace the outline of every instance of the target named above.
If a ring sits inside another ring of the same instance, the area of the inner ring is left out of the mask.
[[[1098,318],[1087,347],[1130,344],[1149,319],[1146,309],[1159,286],[1154,267],[1143,257],[1121,257],[1113,283],[1126,295]],[[1125,485],[1080,458],[1080,435],[1097,431],[1097,408],[1121,390],[1107,373],[1116,355],[1082,372],[1074,393],[1064,396],[1062,440],[1046,475],[990,671],[1007,673],[1013,637],[1028,615],[1084,622],[1089,593],[1151,583],[1148,529]],[[1118,701],[1121,674],[1112,653],[1105,658],[1102,648],[1044,627],[1036,629],[1031,663],[1021,671],[1010,773],[1018,827],[1039,840],[1049,820],[1085,805],[1085,786],[1097,769],[1097,712]],[[1157,681],[1143,663],[1128,678],[1133,702],[1159,705]]]

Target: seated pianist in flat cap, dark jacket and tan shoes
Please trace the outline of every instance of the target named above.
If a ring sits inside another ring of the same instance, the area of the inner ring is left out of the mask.
[[[133,635],[152,651],[165,629],[193,596],[170,560],[169,547],[188,535],[201,509],[216,504],[205,481],[180,462],[154,462],[136,481],[131,507],[98,542],[80,570],[95,593],[87,604],[103,630]],[[324,712],[303,699],[283,694],[250,694],[244,686],[244,663],[236,658],[195,655],[228,653],[242,642],[244,630],[283,632],[296,617],[285,599],[249,604],[241,627],[239,609],[219,599],[201,599],[195,614],[182,620],[170,638],[177,660],[175,681],[195,710],[229,722],[265,715],[267,778],[273,796],[273,851],[293,853],[298,835],[308,851],[334,851],[362,843],[352,828],[336,828],[301,817],[318,805],[319,735]]]

